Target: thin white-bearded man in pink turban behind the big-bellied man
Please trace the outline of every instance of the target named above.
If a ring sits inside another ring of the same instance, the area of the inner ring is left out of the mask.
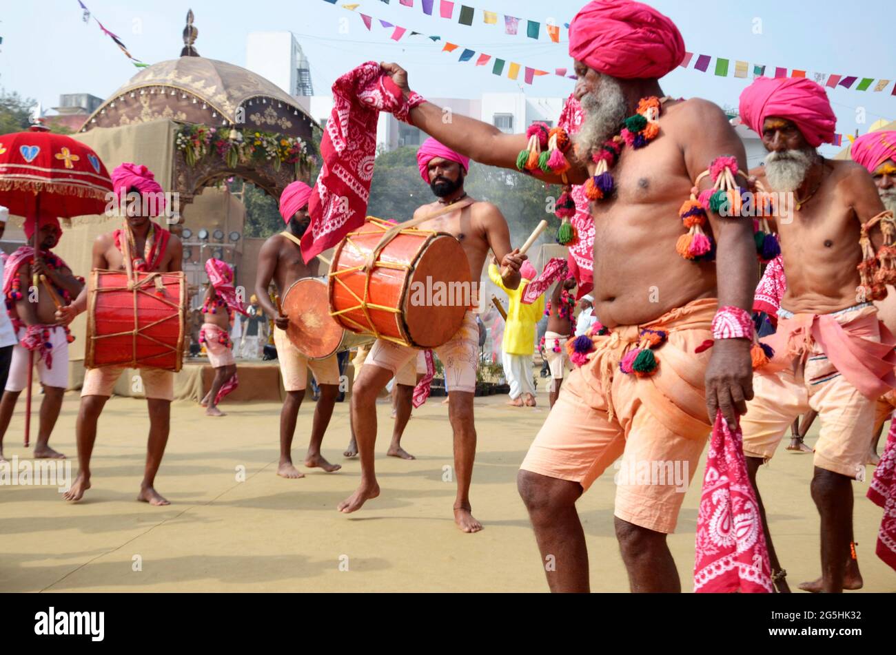
[[[792,193],[788,205],[796,209],[777,221],[787,291],[777,332],[762,339],[775,354],[754,376],[754,398],[741,420],[744,454],[756,488],[759,466],[794,418],[809,409],[818,413],[811,490],[821,515],[822,577],[800,588],[857,589],[851,481],[865,479],[874,406],[896,384],[892,336],[882,338],[877,309],[857,294],[860,228],[883,212],[883,203],[861,166],[817,152],[833,140],[836,116],[814,81],[758,78],[741,94],[740,115],[769,150],[771,191]],[[883,242],[876,230],[872,241],[876,251]],[[764,524],[758,489],[756,498]],[[785,575],[773,572],[779,591],[789,591]]]

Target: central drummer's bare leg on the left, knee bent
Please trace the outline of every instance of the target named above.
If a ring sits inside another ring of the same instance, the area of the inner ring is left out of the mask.
[[[365,364],[355,379],[351,392],[351,418],[358,439],[358,453],[361,455],[361,481],[358,489],[343,500],[338,509],[343,514],[357,512],[366,500],[380,495],[380,485],[376,482],[374,470],[374,449],[376,447],[376,396],[380,389],[392,379],[391,370],[373,364]]]

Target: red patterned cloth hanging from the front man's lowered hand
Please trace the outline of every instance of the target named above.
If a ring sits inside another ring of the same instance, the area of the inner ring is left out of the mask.
[[[740,428],[719,412],[712,428],[700,510],[694,591],[771,593],[771,564]]]

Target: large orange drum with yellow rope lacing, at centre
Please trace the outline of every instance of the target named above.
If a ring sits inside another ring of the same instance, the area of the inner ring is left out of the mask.
[[[403,229],[371,269],[367,259],[393,225],[367,217],[336,246],[328,285],[330,313],[342,327],[415,348],[447,342],[478,302],[470,264],[451,234]]]

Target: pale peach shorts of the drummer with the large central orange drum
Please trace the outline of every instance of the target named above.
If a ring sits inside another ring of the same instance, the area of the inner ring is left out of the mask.
[[[475,393],[476,369],[479,363],[479,327],[476,315],[472,311],[468,310],[464,315],[463,324],[454,336],[433,351],[442,361],[448,388],[452,391]],[[401,385],[416,385],[417,373],[426,373],[423,351],[383,339],[376,340],[364,363],[391,370]],[[413,366],[413,375],[409,366]]]

